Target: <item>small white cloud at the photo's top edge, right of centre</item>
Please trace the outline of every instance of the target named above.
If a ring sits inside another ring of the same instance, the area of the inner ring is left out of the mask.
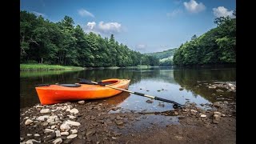
[[[188,10],[190,13],[198,13],[206,9],[206,6],[204,6],[202,2],[198,4],[198,2],[195,2],[195,0],[190,0],[190,2],[183,2],[183,4],[186,10]]]

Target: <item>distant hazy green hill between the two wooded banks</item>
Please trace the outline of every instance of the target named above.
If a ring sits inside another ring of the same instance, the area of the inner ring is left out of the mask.
[[[159,66],[173,66],[173,57],[175,50],[178,48],[170,49],[170,50],[164,50],[161,52],[156,53],[148,53],[146,55],[154,56],[156,58],[159,58]]]

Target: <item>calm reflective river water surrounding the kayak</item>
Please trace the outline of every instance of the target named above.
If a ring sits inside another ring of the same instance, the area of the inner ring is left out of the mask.
[[[186,101],[212,103],[217,101],[236,101],[236,93],[217,93],[206,85],[214,82],[236,82],[235,68],[205,68],[205,69],[172,69],[170,67],[148,69],[117,69],[117,70],[76,70],[76,71],[38,71],[20,73],[20,108],[34,106],[39,103],[35,85],[55,83],[76,83],[78,78],[100,81],[107,78],[130,79],[129,90],[170,99],[185,104]],[[184,90],[179,90],[183,87]],[[215,94],[215,95],[214,95]],[[147,103],[145,98],[123,92],[112,98],[94,102],[108,102],[122,110],[134,111],[165,111],[173,110],[173,104],[154,100]],[[164,104],[164,107],[159,104]]]

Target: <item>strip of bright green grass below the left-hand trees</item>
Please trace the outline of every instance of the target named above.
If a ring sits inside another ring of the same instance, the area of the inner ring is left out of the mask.
[[[20,71],[32,70],[83,70],[84,68],[78,66],[59,66],[46,64],[20,64]]]

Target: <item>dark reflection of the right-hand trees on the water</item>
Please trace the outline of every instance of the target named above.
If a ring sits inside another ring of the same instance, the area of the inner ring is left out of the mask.
[[[190,90],[194,97],[201,96],[210,102],[236,101],[235,93],[217,93],[216,89],[209,89],[206,85],[214,82],[236,82],[236,69],[182,69],[174,70],[174,80]]]

